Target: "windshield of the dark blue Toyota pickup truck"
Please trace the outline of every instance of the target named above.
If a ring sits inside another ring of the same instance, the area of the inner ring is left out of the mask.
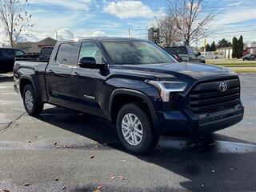
[[[176,62],[170,54],[153,43],[140,41],[103,41],[102,43],[116,65]]]

